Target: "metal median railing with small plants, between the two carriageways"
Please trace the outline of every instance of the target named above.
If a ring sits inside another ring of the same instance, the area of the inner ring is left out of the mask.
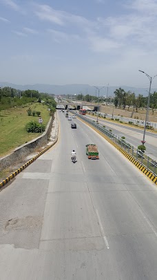
[[[146,156],[145,153],[143,153],[139,149],[136,149],[134,146],[131,146],[124,139],[116,136],[114,133],[112,133],[112,131],[105,129],[105,127],[102,127],[96,121],[89,120],[85,116],[79,115],[78,113],[75,113],[75,115],[77,115],[83,121],[90,124],[92,127],[95,127],[98,131],[101,131],[101,133],[103,133],[103,135],[107,136],[107,138],[109,138],[109,140],[112,140],[112,142],[114,142],[116,144],[116,146],[118,145],[119,148],[123,149],[123,151],[126,151],[127,154],[133,158],[133,160],[136,160],[136,162],[138,162],[140,164],[140,168],[144,167],[145,170],[149,171],[154,176],[154,178],[156,178],[156,183],[157,183],[157,162],[156,162],[156,160],[153,160],[149,156]],[[142,170],[142,169],[140,169],[140,170],[143,171],[143,173],[145,173],[144,172],[145,170]]]

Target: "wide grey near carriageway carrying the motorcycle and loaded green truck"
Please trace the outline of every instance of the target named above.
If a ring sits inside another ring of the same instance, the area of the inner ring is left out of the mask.
[[[83,122],[59,121],[57,144],[0,193],[0,279],[156,279],[156,186]]]

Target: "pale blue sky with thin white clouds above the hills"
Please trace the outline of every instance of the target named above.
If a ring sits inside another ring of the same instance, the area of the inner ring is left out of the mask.
[[[149,87],[157,0],[0,0],[0,50],[0,82]]]

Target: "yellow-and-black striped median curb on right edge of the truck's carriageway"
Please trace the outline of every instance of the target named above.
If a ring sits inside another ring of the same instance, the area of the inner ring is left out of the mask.
[[[77,118],[79,118],[79,116],[77,116]],[[89,127],[91,127],[92,129],[94,129],[96,132],[98,132],[101,136],[103,136],[103,138],[105,138],[105,140],[107,140],[108,142],[110,142],[110,144],[112,144],[116,149],[118,149],[118,151],[121,151],[121,153],[123,153],[123,155],[129,160],[131,161],[134,165],[136,165],[136,167],[138,167],[138,169],[140,171],[143,172],[143,174],[145,174],[153,183],[155,183],[157,185],[157,177],[154,176],[154,174],[149,171],[145,166],[141,165],[140,162],[138,162],[138,160],[136,160],[133,156],[131,156],[129,153],[127,153],[127,151],[125,151],[123,148],[119,147],[118,144],[116,144],[114,141],[112,141],[108,136],[105,136],[101,131],[99,131],[98,129],[96,129],[95,127],[92,127],[92,125],[88,124],[87,122],[85,122],[85,120],[82,120],[82,118],[79,118],[79,120],[81,120],[81,122],[84,122],[85,124],[87,124]]]

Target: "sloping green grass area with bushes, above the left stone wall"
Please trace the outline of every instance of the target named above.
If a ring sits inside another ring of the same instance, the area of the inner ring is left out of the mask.
[[[25,130],[25,124],[31,120],[38,122],[39,117],[28,116],[27,110],[31,108],[32,111],[40,111],[40,117],[43,118],[45,126],[50,120],[50,113],[48,106],[41,103],[33,103],[24,108],[12,108],[0,112],[0,156],[6,156],[13,149],[25,144],[30,140],[38,137],[41,133],[28,133]]]

